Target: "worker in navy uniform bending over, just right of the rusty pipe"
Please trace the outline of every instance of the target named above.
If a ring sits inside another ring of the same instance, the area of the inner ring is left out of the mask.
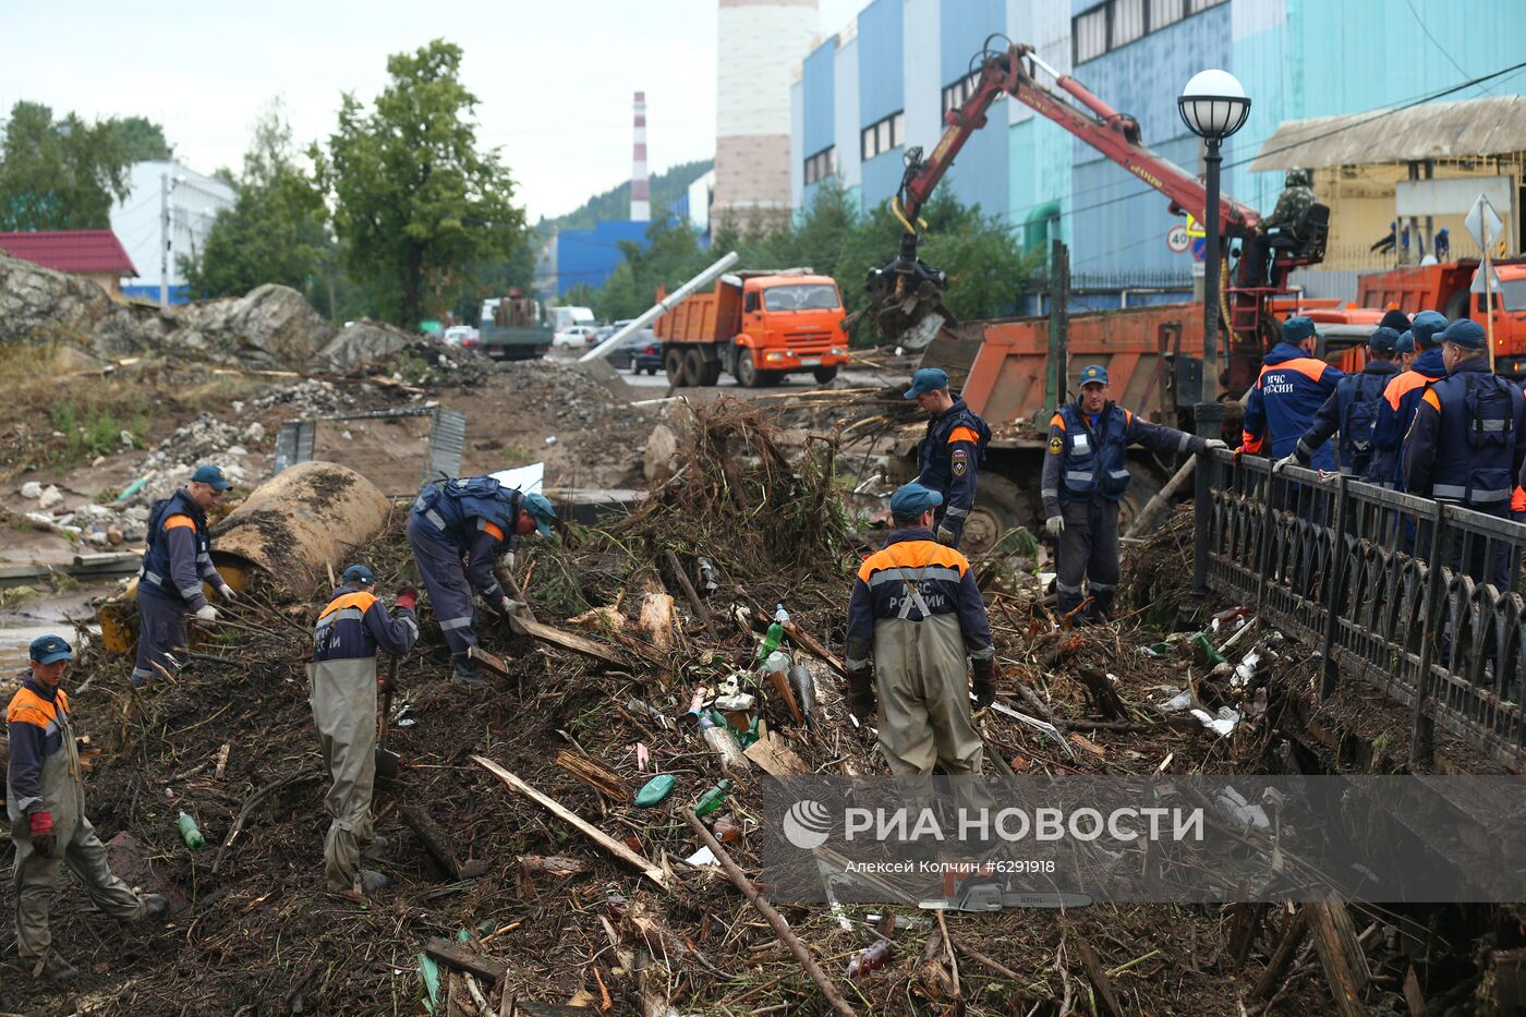
[[[505,617],[511,614],[514,602],[493,577],[493,563],[502,556],[513,570],[519,538],[536,530],[551,536],[552,519],[555,510],[543,495],[504,489],[491,476],[435,481],[414,501],[407,544],[455,660],[452,683],[487,687],[467,655],[478,644],[473,591]]]

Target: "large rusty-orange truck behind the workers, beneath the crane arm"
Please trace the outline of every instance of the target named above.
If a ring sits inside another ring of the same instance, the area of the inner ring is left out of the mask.
[[[1366,337],[1380,310],[1344,307],[1332,299],[1274,301],[1277,318],[1302,313],[1314,319],[1318,354],[1343,371],[1360,371]],[[1202,374],[1202,305],[1160,304],[1109,312],[1071,313],[1067,319],[1065,399],[1088,363],[1108,370],[1112,399],[1148,420],[1192,429],[1192,405]],[[1048,444],[1045,406],[1050,319],[1009,318],[943,328],[923,353],[922,366],[948,371],[952,388],[992,426],[975,507],[964,524],[966,551],[980,553],[1012,527],[1030,530],[1042,521],[1039,476]],[[1222,360],[1221,360],[1222,363]],[[1222,394],[1222,389],[1221,389]],[[1238,414],[1228,421],[1239,432]],[[917,473],[922,428],[908,428],[894,449],[897,478]],[[1123,525],[1164,486],[1177,469],[1170,457],[1129,449],[1129,484]]]

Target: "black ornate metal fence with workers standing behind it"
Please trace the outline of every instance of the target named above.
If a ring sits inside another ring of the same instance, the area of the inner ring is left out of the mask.
[[[1412,709],[1410,759],[1433,727],[1523,762],[1526,525],[1347,476],[1213,452],[1207,582],[1323,652],[1322,695],[1344,675]],[[1439,563],[1439,565],[1437,565]]]

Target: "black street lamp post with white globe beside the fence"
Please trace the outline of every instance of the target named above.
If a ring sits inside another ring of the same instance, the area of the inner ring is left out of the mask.
[[[1224,406],[1219,389],[1219,144],[1245,125],[1250,99],[1245,89],[1227,70],[1199,70],[1181,90],[1177,110],[1183,124],[1207,142],[1206,202],[1202,209],[1202,380],[1193,411],[1196,431],[1204,438],[1221,437]],[[1195,483],[1195,541],[1192,554],[1192,594],[1201,599],[1209,591],[1209,527],[1213,516],[1212,461],[1198,464]]]

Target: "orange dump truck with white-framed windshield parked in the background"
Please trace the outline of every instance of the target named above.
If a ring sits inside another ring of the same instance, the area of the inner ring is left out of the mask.
[[[664,296],[658,290],[658,299]],[[696,293],[659,318],[655,331],[674,383],[714,385],[725,371],[757,388],[810,371],[824,385],[848,362],[842,318],[832,276],[810,269],[734,272],[720,276],[713,293]]]

